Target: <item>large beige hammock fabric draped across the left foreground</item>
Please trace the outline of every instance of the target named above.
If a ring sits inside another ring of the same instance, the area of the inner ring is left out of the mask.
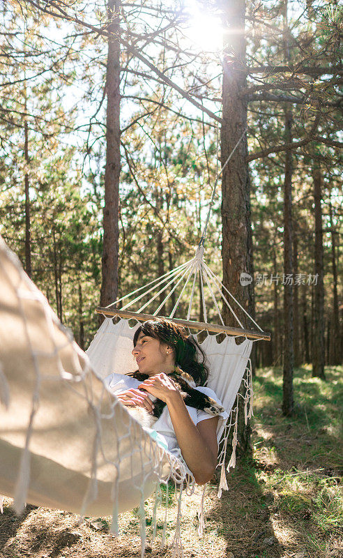
[[[183,464],[109,393],[0,237],[0,494],[88,515],[142,504]],[[144,520],[145,525],[145,520]]]

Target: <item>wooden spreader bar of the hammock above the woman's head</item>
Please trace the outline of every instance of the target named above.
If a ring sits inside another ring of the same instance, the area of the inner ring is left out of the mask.
[[[155,319],[155,318],[163,318],[169,319],[175,324],[179,324],[184,327],[189,327],[192,329],[197,329],[198,331],[202,331],[206,329],[207,331],[213,331],[214,333],[227,333],[227,335],[234,335],[235,337],[242,337],[242,335],[248,339],[264,339],[266,341],[270,341],[270,333],[268,331],[253,331],[250,329],[241,329],[238,327],[231,327],[231,326],[222,326],[218,324],[206,324],[205,322],[193,322],[192,320],[188,319],[176,319],[170,318],[166,316],[154,316],[152,314],[142,314],[139,312],[129,312],[129,310],[116,310],[116,308],[109,309],[109,308],[102,308],[102,306],[98,306],[96,308],[96,312],[98,314],[102,314],[106,317],[115,317],[119,316],[125,319],[136,319],[137,322],[146,322],[148,319]]]

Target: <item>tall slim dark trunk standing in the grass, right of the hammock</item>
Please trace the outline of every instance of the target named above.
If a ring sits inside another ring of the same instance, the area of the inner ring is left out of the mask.
[[[290,61],[289,55],[289,27],[288,27],[288,3],[284,3],[284,61]],[[291,105],[287,103],[284,108],[284,141],[292,141],[293,115]],[[286,151],[284,166],[284,276],[293,277],[293,229],[292,229],[292,175],[293,158],[292,152]],[[282,412],[289,416],[293,413],[293,285],[292,282],[284,285],[284,365],[283,365],[283,395]]]

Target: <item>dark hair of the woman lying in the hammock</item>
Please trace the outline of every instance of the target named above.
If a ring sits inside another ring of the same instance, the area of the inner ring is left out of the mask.
[[[192,336],[188,336],[185,328],[174,324],[169,319],[149,319],[135,331],[133,346],[137,344],[139,333],[158,339],[172,347],[175,356],[175,365],[187,372],[197,386],[204,386],[208,378],[208,368],[205,365],[204,351],[199,347]],[[202,357],[202,360],[199,361]],[[135,372],[134,376],[139,374]]]

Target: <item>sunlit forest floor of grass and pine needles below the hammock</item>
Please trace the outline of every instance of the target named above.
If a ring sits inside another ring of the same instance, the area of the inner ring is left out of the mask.
[[[254,459],[229,475],[229,490],[217,498],[218,483],[205,497],[206,530],[197,535],[201,489],[183,499],[185,558],[338,558],[343,556],[342,367],[326,368],[327,381],[311,377],[310,366],[294,378],[295,413],[281,414],[282,370],[257,370],[254,379]],[[341,416],[340,416],[341,415]],[[26,506],[17,518],[5,499],[0,515],[3,558],[139,558],[139,513],[120,516],[120,535],[109,534],[111,518],[86,518]],[[153,498],[145,504],[151,534]],[[162,531],[162,511],[158,533]],[[172,541],[176,502],[167,506],[167,543]],[[159,538],[147,557],[172,555]]]

